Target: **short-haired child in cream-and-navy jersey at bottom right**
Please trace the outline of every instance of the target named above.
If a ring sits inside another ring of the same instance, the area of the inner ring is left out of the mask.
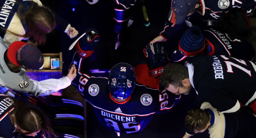
[[[240,111],[221,113],[208,102],[191,109],[185,119],[187,131],[183,138],[209,130],[211,138],[253,138],[256,135],[256,115]]]

